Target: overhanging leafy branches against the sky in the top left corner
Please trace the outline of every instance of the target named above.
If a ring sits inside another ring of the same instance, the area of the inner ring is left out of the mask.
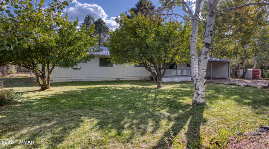
[[[54,0],[44,4],[44,0],[1,0],[0,1],[0,50],[14,46],[28,47],[42,41],[45,33],[38,28],[48,28],[49,24],[62,27],[68,24],[62,18],[61,10],[68,6],[67,1]],[[72,1],[70,1],[72,2]]]

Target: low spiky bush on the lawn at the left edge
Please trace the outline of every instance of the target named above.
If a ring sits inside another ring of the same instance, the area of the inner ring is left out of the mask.
[[[0,105],[15,103],[19,100],[20,96],[12,89],[4,89],[3,82],[0,82]]]

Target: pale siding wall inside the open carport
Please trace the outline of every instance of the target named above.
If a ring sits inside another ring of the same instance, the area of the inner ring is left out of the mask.
[[[210,77],[211,62],[207,63],[207,77]],[[212,77],[229,78],[229,62],[212,62]]]

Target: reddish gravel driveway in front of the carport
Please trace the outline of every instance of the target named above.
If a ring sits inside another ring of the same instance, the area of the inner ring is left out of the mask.
[[[207,82],[209,82],[210,80],[207,80]],[[251,85],[251,86],[267,86],[269,84],[268,80],[252,80],[252,79],[239,79],[239,78],[230,78],[230,79],[220,79],[220,78],[212,78],[213,82],[218,82],[218,83],[236,83],[236,84],[240,84],[240,85]]]

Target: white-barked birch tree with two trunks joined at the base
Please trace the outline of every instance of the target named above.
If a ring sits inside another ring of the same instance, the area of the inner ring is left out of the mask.
[[[213,35],[215,16],[218,13],[223,13],[228,10],[236,10],[250,5],[260,5],[260,4],[269,5],[269,3],[260,1],[257,2],[247,1],[249,2],[247,4],[216,10],[219,0],[208,0],[207,24],[204,29],[205,32],[204,32],[203,48],[201,58],[198,59],[197,54],[198,24],[200,21],[201,4],[204,0],[159,0],[159,1],[162,6],[159,7],[158,12],[155,12],[154,14],[177,16],[185,20],[192,21],[192,35],[190,38],[190,55],[191,55],[192,78],[195,84],[195,91],[192,103],[202,104],[204,103],[206,93],[206,68],[211,47],[211,38]],[[181,7],[182,10],[189,15],[189,18],[174,13],[174,9],[176,7]]]

